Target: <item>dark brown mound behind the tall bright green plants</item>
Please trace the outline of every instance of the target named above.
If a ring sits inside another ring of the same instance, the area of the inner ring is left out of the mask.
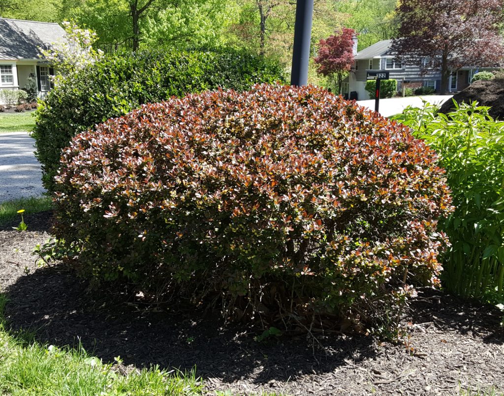
[[[455,94],[453,99],[459,104],[478,101],[480,106],[491,106],[489,114],[493,118],[504,120],[504,78],[476,81],[465,90]],[[452,111],[452,108],[453,101],[449,99],[443,104],[440,112],[446,114]]]

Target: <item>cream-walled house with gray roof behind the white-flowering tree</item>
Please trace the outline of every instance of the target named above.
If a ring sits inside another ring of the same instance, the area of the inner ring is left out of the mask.
[[[43,98],[51,88],[49,75],[54,73],[39,57],[38,48],[46,49],[64,36],[56,23],[0,18],[0,90],[23,89],[33,73],[38,96]]]

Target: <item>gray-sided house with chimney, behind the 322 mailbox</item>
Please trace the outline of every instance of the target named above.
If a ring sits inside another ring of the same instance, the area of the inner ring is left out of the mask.
[[[356,42],[354,38],[354,42]],[[431,87],[439,92],[441,87],[441,70],[430,68],[422,73],[420,66],[401,64],[394,58],[390,48],[392,40],[382,40],[360,52],[354,49],[355,63],[349,75],[343,80],[343,94],[351,99],[369,99],[369,94],[364,89],[366,85],[366,70],[386,69],[390,71],[390,78],[397,80],[398,92],[404,88]],[[356,48],[356,45],[354,45]],[[424,59],[428,62],[428,59]],[[448,88],[450,92],[462,91],[472,80],[473,75],[482,68],[462,67],[450,76]],[[353,93],[353,94],[352,94]],[[355,94],[356,93],[356,94]],[[357,98],[355,98],[355,95]]]

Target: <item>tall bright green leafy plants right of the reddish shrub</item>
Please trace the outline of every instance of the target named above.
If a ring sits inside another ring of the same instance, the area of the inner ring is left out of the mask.
[[[406,108],[398,120],[440,155],[456,211],[440,223],[452,243],[443,257],[444,285],[462,296],[498,301],[504,296],[504,122],[488,107],[454,101]]]

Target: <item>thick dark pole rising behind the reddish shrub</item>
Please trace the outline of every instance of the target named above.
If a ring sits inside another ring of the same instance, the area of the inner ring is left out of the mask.
[[[308,83],[312,20],[313,0],[297,0],[294,49],[292,51],[292,73],[290,77],[290,85],[297,87]]]

